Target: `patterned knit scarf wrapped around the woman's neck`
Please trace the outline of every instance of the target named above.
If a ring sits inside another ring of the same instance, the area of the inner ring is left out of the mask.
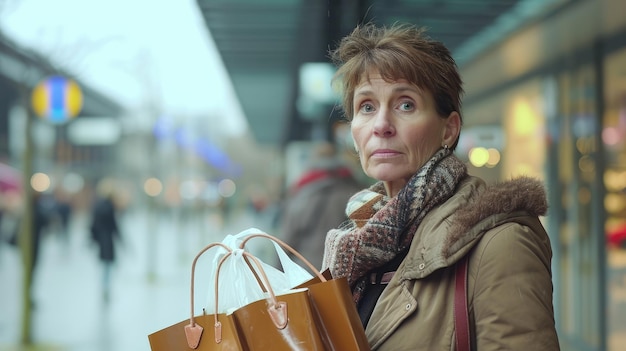
[[[465,164],[440,149],[397,196],[389,198],[382,182],[356,193],[346,206],[349,220],[326,236],[323,269],[346,277],[358,303],[366,273],[407,249],[424,216],[449,199],[466,175]]]

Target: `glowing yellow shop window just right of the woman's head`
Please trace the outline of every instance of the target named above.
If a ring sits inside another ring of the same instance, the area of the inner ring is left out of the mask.
[[[530,80],[468,106],[457,153],[470,173],[488,182],[518,176],[544,179],[545,99]]]

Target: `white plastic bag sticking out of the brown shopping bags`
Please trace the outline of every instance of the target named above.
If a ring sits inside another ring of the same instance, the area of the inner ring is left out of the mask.
[[[234,309],[267,297],[259,288],[257,277],[255,277],[250,269],[251,267],[245,260],[244,255],[241,254],[239,247],[247,236],[259,233],[267,235],[267,233],[260,229],[249,228],[236,235],[229,234],[222,240],[222,244],[233,250],[233,255],[223,263],[220,270],[217,313],[229,313]],[[272,244],[283,270],[264,262],[261,262],[261,265],[276,294],[286,292],[313,278],[313,275],[294,262],[279,244],[273,241]],[[249,251],[246,248],[244,248],[244,250]],[[215,274],[217,265],[220,259],[226,254],[226,250],[218,247],[215,250],[211,250],[209,253],[212,257],[210,258],[211,269],[208,277],[210,284],[205,310],[207,313],[214,313]],[[258,268],[254,265],[252,265],[252,268],[258,275]]]

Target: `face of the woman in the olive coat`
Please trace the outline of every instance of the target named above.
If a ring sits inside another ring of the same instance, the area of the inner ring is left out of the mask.
[[[432,95],[406,80],[385,81],[372,72],[354,91],[352,137],[361,167],[383,181],[395,196],[443,145],[452,145],[460,117],[448,118],[435,110]]]

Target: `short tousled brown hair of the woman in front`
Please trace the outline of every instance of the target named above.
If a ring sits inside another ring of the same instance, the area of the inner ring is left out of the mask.
[[[456,62],[443,43],[430,39],[425,32],[411,24],[365,24],[330,51],[338,67],[333,81],[341,84],[344,115],[349,121],[354,114],[354,90],[370,70],[377,70],[385,80],[406,79],[428,90],[443,118],[453,111],[461,115],[463,82]]]

